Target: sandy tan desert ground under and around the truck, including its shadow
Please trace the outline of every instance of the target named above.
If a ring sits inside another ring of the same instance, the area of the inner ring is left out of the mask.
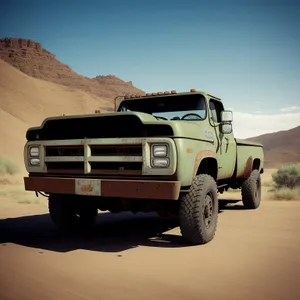
[[[47,199],[22,178],[0,186],[0,299],[299,299],[300,201],[220,210],[216,236],[183,243],[177,221],[99,213],[95,230],[63,236]],[[220,199],[240,199],[238,192]]]

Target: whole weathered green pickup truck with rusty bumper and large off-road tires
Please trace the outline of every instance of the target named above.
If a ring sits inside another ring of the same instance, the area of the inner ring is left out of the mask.
[[[232,112],[205,92],[122,97],[115,112],[51,117],[29,128],[25,189],[48,198],[62,230],[94,225],[98,210],[175,215],[190,244],[210,242],[218,193],[261,201],[263,147],[236,139]]]

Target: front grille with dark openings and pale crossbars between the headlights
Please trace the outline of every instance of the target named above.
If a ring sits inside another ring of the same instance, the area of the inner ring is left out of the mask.
[[[90,156],[85,159],[84,145],[45,146],[47,173],[84,174],[88,169],[89,174],[142,175],[142,144],[86,147],[90,148]]]

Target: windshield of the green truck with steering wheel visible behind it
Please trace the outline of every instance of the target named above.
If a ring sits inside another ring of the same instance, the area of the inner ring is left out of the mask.
[[[153,98],[124,100],[118,111],[137,111],[151,114],[164,120],[203,120],[206,117],[206,103],[203,95],[173,95]]]

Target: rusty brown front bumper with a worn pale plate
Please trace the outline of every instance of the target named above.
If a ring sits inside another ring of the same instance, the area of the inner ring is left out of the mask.
[[[24,177],[25,190],[53,194],[178,200],[180,181]]]

